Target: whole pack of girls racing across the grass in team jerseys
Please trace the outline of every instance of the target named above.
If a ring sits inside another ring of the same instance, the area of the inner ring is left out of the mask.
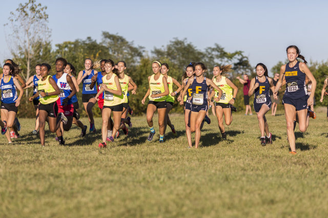
[[[314,93],[316,89],[316,80],[306,66],[305,58],[300,55],[296,46],[289,46],[286,49],[289,63],[281,66],[280,77],[273,84],[273,79],[268,77],[268,69],[263,63],[256,65],[256,77],[251,80],[248,95],[254,94],[254,110],[257,114],[261,144],[272,143],[272,134],[269,132],[269,125],[265,114],[271,108],[270,89],[273,98],[277,99],[277,92],[282,85],[286,85],[283,96],[283,105],[285,108],[285,118],[287,123],[288,141],[291,148],[291,154],[296,154],[295,148],[295,123],[299,123],[299,129],[304,132],[309,125],[308,106],[313,104]],[[303,60],[299,62],[297,58]],[[106,147],[107,141],[113,142],[118,136],[118,130],[122,129],[128,134],[128,127],[131,127],[131,118],[127,117],[130,111],[128,104],[128,92],[135,94],[137,85],[130,76],[125,74],[127,65],[125,61],[118,61],[116,64],[111,59],[100,60],[101,72],[94,70],[95,66],[91,59],[85,60],[85,70],[78,73],[75,79],[75,68],[64,58],[57,58],[55,62],[56,74],[49,75],[51,69],[47,63],[37,64],[36,74],[31,76],[28,81],[19,76],[17,64],[12,60],[6,61],[3,67],[1,77],[2,104],[1,117],[2,134],[6,135],[9,142],[11,138],[18,137],[17,131],[20,129],[18,119],[15,118],[17,106],[23,96],[23,88],[27,89],[33,86],[33,96],[29,98],[33,101],[36,110],[35,129],[33,134],[39,136],[42,146],[45,145],[45,122],[49,123],[51,132],[56,132],[59,144],[65,144],[63,133],[68,131],[74,123],[81,128],[81,136],[86,135],[87,126],[79,121],[78,102],[76,92],[79,91],[78,85],[83,83],[82,101],[88,114],[90,122],[90,132],[95,132],[92,107],[98,102],[101,110],[103,124],[101,126],[102,142],[99,147]],[[175,96],[178,93],[177,100],[185,108],[186,135],[188,147],[192,148],[191,133],[195,132],[195,148],[199,146],[200,133],[203,123],[210,124],[207,117],[209,101],[214,97],[215,114],[218,120],[218,126],[222,139],[227,139],[223,125],[223,115],[226,125],[230,125],[233,120],[232,111],[236,111],[233,106],[238,92],[237,86],[226,76],[231,72],[232,66],[214,66],[213,78],[204,76],[207,67],[201,63],[190,63],[186,67],[186,72],[182,76],[182,84],[168,75],[169,65],[160,61],[153,61],[153,74],[148,77],[149,89],[145,97],[141,100],[145,104],[148,98],[147,122],[150,129],[148,141],[152,141],[155,135],[153,126],[153,116],[155,111],[158,113],[159,142],[164,141],[164,135],[167,125],[171,128],[174,136],[177,136],[174,125],[171,123],[169,112],[172,109]],[[312,82],[311,95],[307,95],[306,83]],[[19,82],[22,84],[20,85]],[[95,88],[97,83],[97,88]],[[322,90],[323,95],[327,95],[325,86]],[[173,84],[177,89],[173,91]],[[26,87],[25,87],[26,86]],[[214,92],[208,92],[213,89]],[[17,93],[19,92],[19,95]],[[311,111],[310,111],[311,112]],[[111,119],[113,114],[113,120]],[[328,114],[327,114],[328,117]],[[11,133],[7,132],[7,127],[11,128]]]

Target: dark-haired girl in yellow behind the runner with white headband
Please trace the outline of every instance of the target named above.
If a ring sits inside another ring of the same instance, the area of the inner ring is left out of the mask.
[[[172,110],[172,107],[173,107],[173,103],[174,103],[174,96],[179,93],[181,90],[182,90],[182,86],[180,85],[180,83],[174,79],[173,77],[169,76],[168,75],[168,72],[169,72],[169,64],[167,63],[162,63],[162,67],[160,69],[160,73],[166,77],[166,79],[168,80],[168,86],[169,86],[169,95],[167,95],[167,99],[166,99],[166,103],[167,103],[167,107],[166,107],[166,117],[165,117],[165,122],[164,122],[164,125],[165,125],[165,129],[164,129],[164,133],[166,132],[166,127],[167,125],[170,126],[171,128],[171,131],[173,133],[173,135],[175,137],[177,137],[177,133],[174,129],[174,125],[171,123],[171,120],[170,120],[170,117],[169,117],[169,113],[170,111]],[[178,86],[178,89],[173,92],[173,83]]]

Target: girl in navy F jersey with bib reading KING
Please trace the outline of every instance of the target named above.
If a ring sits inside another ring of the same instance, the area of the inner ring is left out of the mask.
[[[208,110],[208,99],[206,95],[208,86],[211,85],[218,91],[218,98],[221,98],[222,95],[222,90],[211,79],[204,77],[206,70],[207,68],[203,63],[195,63],[195,77],[188,79],[185,89],[183,89],[181,94],[181,96],[185,96],[189,87],[192,87],[190,130],[191,132],[195,132],[195,148],[198,148],[200,126]],[[180,104],[182,105],[183,102],[180,101]]]

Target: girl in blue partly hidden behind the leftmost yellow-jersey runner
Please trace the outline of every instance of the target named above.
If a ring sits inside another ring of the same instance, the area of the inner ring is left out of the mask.
[[[26,81],[26,86],[24,89],[28,89],[30,87],[33,87],[33,95],[37,93],[37,81],[42,78],[40,75],[40,67],[41,64],[36,64],[35,66],[35,75],[31,76],[27,81]],[[32,131],[33,135],[37,134],[37,130],[39,129],[39,97],[36,97],[33,99],[33,105],[35,109],[35,128]]]

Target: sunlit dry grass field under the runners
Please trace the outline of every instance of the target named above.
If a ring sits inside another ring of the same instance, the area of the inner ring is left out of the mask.
[[[30,134],[34,120],[20,119],[22,138],[8,145],[2,136],[0,145],[0,216],[328,216],[324,111],[306,133],[296,131],[297,155],[289,154],[282,112],[267,116],[273,144],[264,147],[256,116],[234,114],[227,141],[210,118],[199,149],[187,149],[182,115],[171,115],[178,138],[168,133],[159,144],[155,125],[153,142],[146,142],[146,117],[132,117],[129,137],[106,149],[98,148],[99,130],[80,138],[76,127],[64,135],[71,146],[59,146],[48,132],[49,146],[40,147]]]

